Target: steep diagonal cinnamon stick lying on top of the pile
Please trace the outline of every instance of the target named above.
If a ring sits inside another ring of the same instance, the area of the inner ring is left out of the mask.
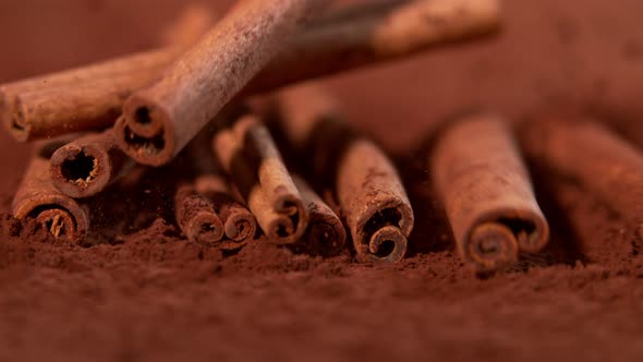
[[[158,82],[125,101],[121,147],[144,165],[169,162],[328,3],[238,2]]]

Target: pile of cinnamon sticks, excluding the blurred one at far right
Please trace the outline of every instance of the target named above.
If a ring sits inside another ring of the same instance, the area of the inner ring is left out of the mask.
[[[400,261],[414,217],[391,160],[319,86],[283,87],[493,35],[499,1],[330,4],[240,0],[218,21],[190,7],[158,49],[1,85],[7,130],[36,143],[14,216],[81,241],[88,197],[142,167],[175,177],[181,159],[190,171],[179,177],[173,212],[192,242],[229,251],[275,242],[330,256],[352,240],[357,261]],[[462,117],[426,159],[476,270],[546,244],[547,222],[504,120]]]

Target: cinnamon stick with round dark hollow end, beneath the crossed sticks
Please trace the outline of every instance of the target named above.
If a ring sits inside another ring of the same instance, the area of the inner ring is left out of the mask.
[[[50,159],[53,185],[63,194],[93,196],[134,166],[118,148],[113,132],[88,134],[58,148]]]

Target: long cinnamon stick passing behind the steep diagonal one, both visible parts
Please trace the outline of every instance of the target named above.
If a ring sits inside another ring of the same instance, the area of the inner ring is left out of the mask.
[[[342,9],[296,35],[242,93],[266,92],[485,36],[499,27],[499,8],[498,0],[395,0]],[[168,44],[192,44],[194,34],[201,35],[210,23],[204,14],[190,8],[173,27],[185,31],[170,33],[174,36],[168,37]],[[166,48],[0,86],[0,118],[21,142],[109,126],[124,99],[157,80],[179,53],[179,48]],[[100,84],[101,80],[108,82]]]

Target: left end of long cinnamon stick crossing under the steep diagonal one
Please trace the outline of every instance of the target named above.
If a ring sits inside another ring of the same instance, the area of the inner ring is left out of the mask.
[[[213,23],[203,5],[189,5],[165,48],[1,85],[2,123],[20,142],[110,126],[132,92],[156,80]]]

